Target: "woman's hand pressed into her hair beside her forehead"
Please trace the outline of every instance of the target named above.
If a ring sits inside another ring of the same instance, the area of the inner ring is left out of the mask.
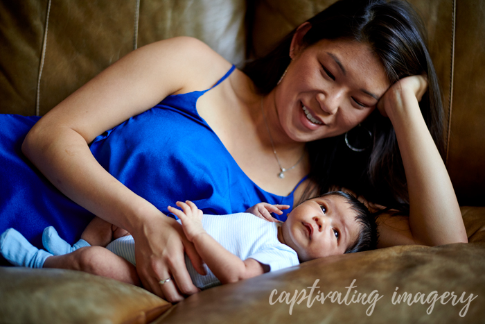
[[[403,109],[409,100],[421,101],[427,90],[426,76],[407,76],[391,85],[377,104],[380,113],[389,117],[396,109]]]

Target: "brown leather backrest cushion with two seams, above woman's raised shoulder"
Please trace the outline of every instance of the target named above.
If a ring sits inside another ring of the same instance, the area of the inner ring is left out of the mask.
[[[43,115],[135,44],[179,35],[240,65],[245,12],[244,0],[1,1],[0,113]]]

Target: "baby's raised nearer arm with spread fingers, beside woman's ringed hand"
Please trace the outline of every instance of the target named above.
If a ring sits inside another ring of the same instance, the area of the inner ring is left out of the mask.
[[[222,284],[238,282],[270,271],[269,266],[255,259],[248,258],[243,261],[215,241],[202,227],[202,210],[199,210],[194,203],[178,201],[177,206],[182,210],[170,206],[168,210],[182,221],[187,239],[194,244],[197,253]]]

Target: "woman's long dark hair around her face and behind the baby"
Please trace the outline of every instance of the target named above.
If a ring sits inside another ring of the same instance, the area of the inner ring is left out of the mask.
[[[427,76],[428,89],[419,103],[427,128],[443,156],[443,108],[436,72],[425,44],[423,23],[405,1],[341,0],[308,19],[310,30],[303,42],[353,40],[369,45],[385,68],[389,82],[418,74]],[[247,63],[244,71],[257,89],[267,94],[290,64],[290,44],[296,29],[267,56]],[[307,144],[310,178],[319,192],[346,187],[374,203],[407,212],[409,195],[396,140],[389,119],[375,110],[362,122],[371,130],[373,144],[364,152],[349,149],[344,135]],[[312,188],[307,188],[308,197]]]

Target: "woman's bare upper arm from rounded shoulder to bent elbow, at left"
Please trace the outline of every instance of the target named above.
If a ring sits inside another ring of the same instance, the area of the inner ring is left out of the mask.
[[[207,89],[231,64],[190,37],[154,42],[128,53],[58,104],[41,128],[76,129],[91,142],[166,96]]]

